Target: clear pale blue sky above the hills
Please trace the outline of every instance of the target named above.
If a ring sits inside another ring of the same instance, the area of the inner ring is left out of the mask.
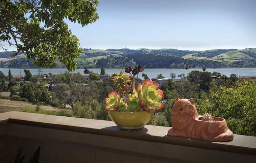
[[[97,13],[85,27],[66,21],[80,47],[256,48],[256,0],[99,0]]]

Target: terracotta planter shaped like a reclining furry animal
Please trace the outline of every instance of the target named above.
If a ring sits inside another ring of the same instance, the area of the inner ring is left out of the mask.
[[[225,119],[214,117],[214,121],[203,121],[197,114],[193,98],[176,98],[171,116],[172,128],[169,136],[183,136],[206,141],[230,141],[234,134],[229,130]]]

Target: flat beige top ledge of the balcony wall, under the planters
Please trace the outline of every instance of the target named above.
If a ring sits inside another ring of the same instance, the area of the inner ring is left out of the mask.
[[[256,156],[256,137],[253,136],[234,135],[234,140],[229,142],[208,142],[201,141],[199,139],[167,136],[166,134],[170,127],[146,125],[141,130],[127,131],[119,129],[112,121],[71,118],[25,112],[2,113],[0,114],[0,123],[67,130],[72,132],[97,134],[117,138],[135,139]]]

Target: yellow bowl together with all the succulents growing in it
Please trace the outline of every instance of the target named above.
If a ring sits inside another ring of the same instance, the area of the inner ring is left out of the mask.
[[[163,108],[160,101],[163,91],[157,89],[158,84],[149,79],[138,83],[135,88],[135,76],[143,71],[142,66],[134,69],[126,67],[120,74],[114,73],[112,80],[116,91],[105,99],[108,115],[121,129],[141,129],[150,121],[156,110]]]

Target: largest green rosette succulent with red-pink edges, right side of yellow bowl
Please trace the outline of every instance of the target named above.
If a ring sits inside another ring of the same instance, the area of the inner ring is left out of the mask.
[[[155,112],[163,109],[163,104],[159,102],[163,98],[163,91],[157,89],[158,84],[149,79],[144,80],[143,85],[137,84],[136,91],[139,94],[141,107],[147,112]]]

